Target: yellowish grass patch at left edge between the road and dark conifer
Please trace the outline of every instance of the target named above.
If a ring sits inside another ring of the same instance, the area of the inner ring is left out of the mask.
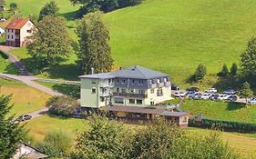
[[[0,94],[12,94],[11,103],[14,107],[11,114],[27,114],[42,109],[50,97],[48,94],[15,81],[0,78],[0,85],[2,85]]]

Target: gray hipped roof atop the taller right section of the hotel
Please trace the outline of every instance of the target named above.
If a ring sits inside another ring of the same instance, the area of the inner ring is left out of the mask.
[[[116,77],[120,78],[136,78],[136,79],[152,79],[159,77],[167,77],[169,75],[150,70],[148,68],[136,65],[128,69],[121,69],[118,72],[113,73]]]

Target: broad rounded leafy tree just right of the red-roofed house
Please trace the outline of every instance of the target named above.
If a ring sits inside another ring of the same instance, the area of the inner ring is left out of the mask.
[[[28,54],[36,60],[38,68],[56,65],[57,60],[67,57],[72,48],[65,21],[60,17],[45,16],[28,40],[31,42]]]

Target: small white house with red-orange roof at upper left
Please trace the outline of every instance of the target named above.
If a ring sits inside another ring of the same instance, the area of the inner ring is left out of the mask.
[[[6,45],[20,47],[27,45],[26,37],[32,35],[34,24],[27,18],[14,18],[5,28]]]

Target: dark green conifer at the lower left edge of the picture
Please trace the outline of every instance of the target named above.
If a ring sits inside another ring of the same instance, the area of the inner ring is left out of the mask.
[[[23,126],[14,122],[13,115],[8,115],[13,107],[10,101],[11,95],[0,96],[0,158],[3,159],[12,158],[25,134]]]

